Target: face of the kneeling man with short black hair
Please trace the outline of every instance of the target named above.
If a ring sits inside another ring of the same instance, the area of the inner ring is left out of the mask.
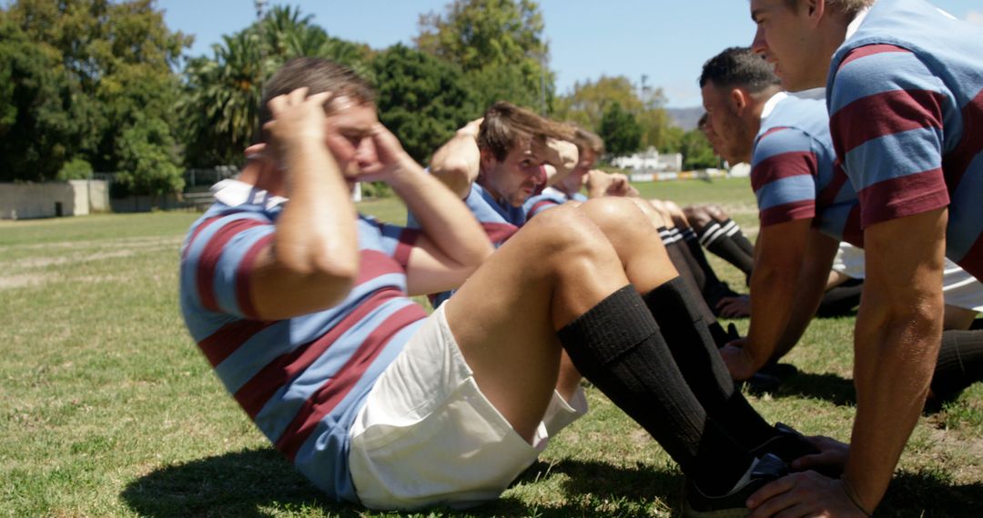
[[[707,81],[701,89],[703,109],[707,111],[708,138],[716,136],[714,150],[731,165],[751,159],[751,145],[757,131],[747,127],[728,88]],[[713,140],[711,140],[713,144]]]

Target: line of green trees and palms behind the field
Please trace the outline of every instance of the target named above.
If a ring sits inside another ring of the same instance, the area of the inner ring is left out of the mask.
[[[699,131],[669,123],[658,88],[602,77],[557,95],[544,30],[532,0],[452,0],[420,17],[412,45],[373,49],[276,6],[187,57],[193,37],[153,0],[15,0],[0,9],[0,181],[118,172],[129,192],[179,191],[185,168],[241,165],[263,80],[299,56],[369,78],[382,123],[422,163],[505,99],[598,132],[612,155],[655,146],[717,164]]]

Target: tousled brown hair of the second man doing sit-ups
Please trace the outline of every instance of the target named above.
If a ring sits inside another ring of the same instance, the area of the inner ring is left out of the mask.
[[[485,112],[478,130],[478,148],[492,151],[495,160],[505,160],[518,142],[533,138],[574,141],[574,131],[510,102],[498,101]]]

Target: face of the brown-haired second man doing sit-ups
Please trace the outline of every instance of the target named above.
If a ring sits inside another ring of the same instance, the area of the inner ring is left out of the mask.
[[[491,151],[482,151],[481,185],[498,200],[521,207],[533,195],[536,186],[546,181],[541,143],[519,141],[504,160],[498,161]]]

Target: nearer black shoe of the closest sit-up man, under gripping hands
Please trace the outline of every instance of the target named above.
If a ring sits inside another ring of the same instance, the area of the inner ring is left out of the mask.
[[[769,482],[788,474],[788,466],[779,457],[765,454],[751,470],[751,478],[723,496],[708,496],[688,479],[683,488],[682,515],[690,518],[738,518],[751,510],[744,502]]]

